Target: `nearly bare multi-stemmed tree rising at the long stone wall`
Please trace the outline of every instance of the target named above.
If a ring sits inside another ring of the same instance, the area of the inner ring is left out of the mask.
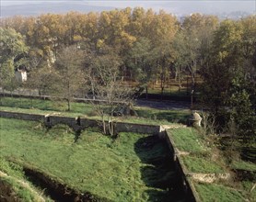
[[[91,57],[85,69],[87,91],[94,95],[92,106],[101,118],[103,133],[114,135],[114,112],[118,107],[131,104],[132,90],[122,83],[120,66],[122,60],[113,50],[101,50]],[[106,124],[108,122],[108,125]]]

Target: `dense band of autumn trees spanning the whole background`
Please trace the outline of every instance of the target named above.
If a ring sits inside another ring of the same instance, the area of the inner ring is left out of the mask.
[[[14,84],[7,78],[18,66],[26,66],[34,87],[51,92],[47,84],[60,81],[68,95],[108,76],[136,81],[142,90],[159,81],[163,91],[170,78],[181,87],[190,75],[194,90],[199,74],[204,83],[196,90],[218,125],[232,120],[236,133],[255,136],[255,15],[220,21],[192,14],[180,22],[164,11],[128,7],[4,18],[0,30],[2,86]]]

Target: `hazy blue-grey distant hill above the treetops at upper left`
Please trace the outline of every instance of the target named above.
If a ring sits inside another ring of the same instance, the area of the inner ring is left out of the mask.
[[[1,6],[1,17],[13,16],[39,16],[45,13],[67,13],[69,11],[78,11],[88,13],[91,11],[101,12],[104,10],[115,9],[113,6],[89,6],[79,2],[62,2],[62,3],[47,3],[47,4],[29,4],[29,5],[14,5]]]

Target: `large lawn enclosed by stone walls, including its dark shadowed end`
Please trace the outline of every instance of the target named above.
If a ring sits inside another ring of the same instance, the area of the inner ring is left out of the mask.
[[[1,156],[16,158],[82,192],[113,201],[168,201],[172,167],[157,137],[121,133],[113,140],[93,129],[0,118]],[[176,194],[177,195],[177,194]]]

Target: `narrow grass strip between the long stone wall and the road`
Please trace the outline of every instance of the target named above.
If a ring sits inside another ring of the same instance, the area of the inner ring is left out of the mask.
[[[63,102],[52,100],[2,97],[2,110],[35,114],[57,113],[67,117],[86,117],[100,119],[91,104],[71,103],[71,111],[65,111]],[[159,110],[149,107],[135,107],[138,117],[117,117],[117,121],[139,124],[185,123],[190,115],[189,110]]]

